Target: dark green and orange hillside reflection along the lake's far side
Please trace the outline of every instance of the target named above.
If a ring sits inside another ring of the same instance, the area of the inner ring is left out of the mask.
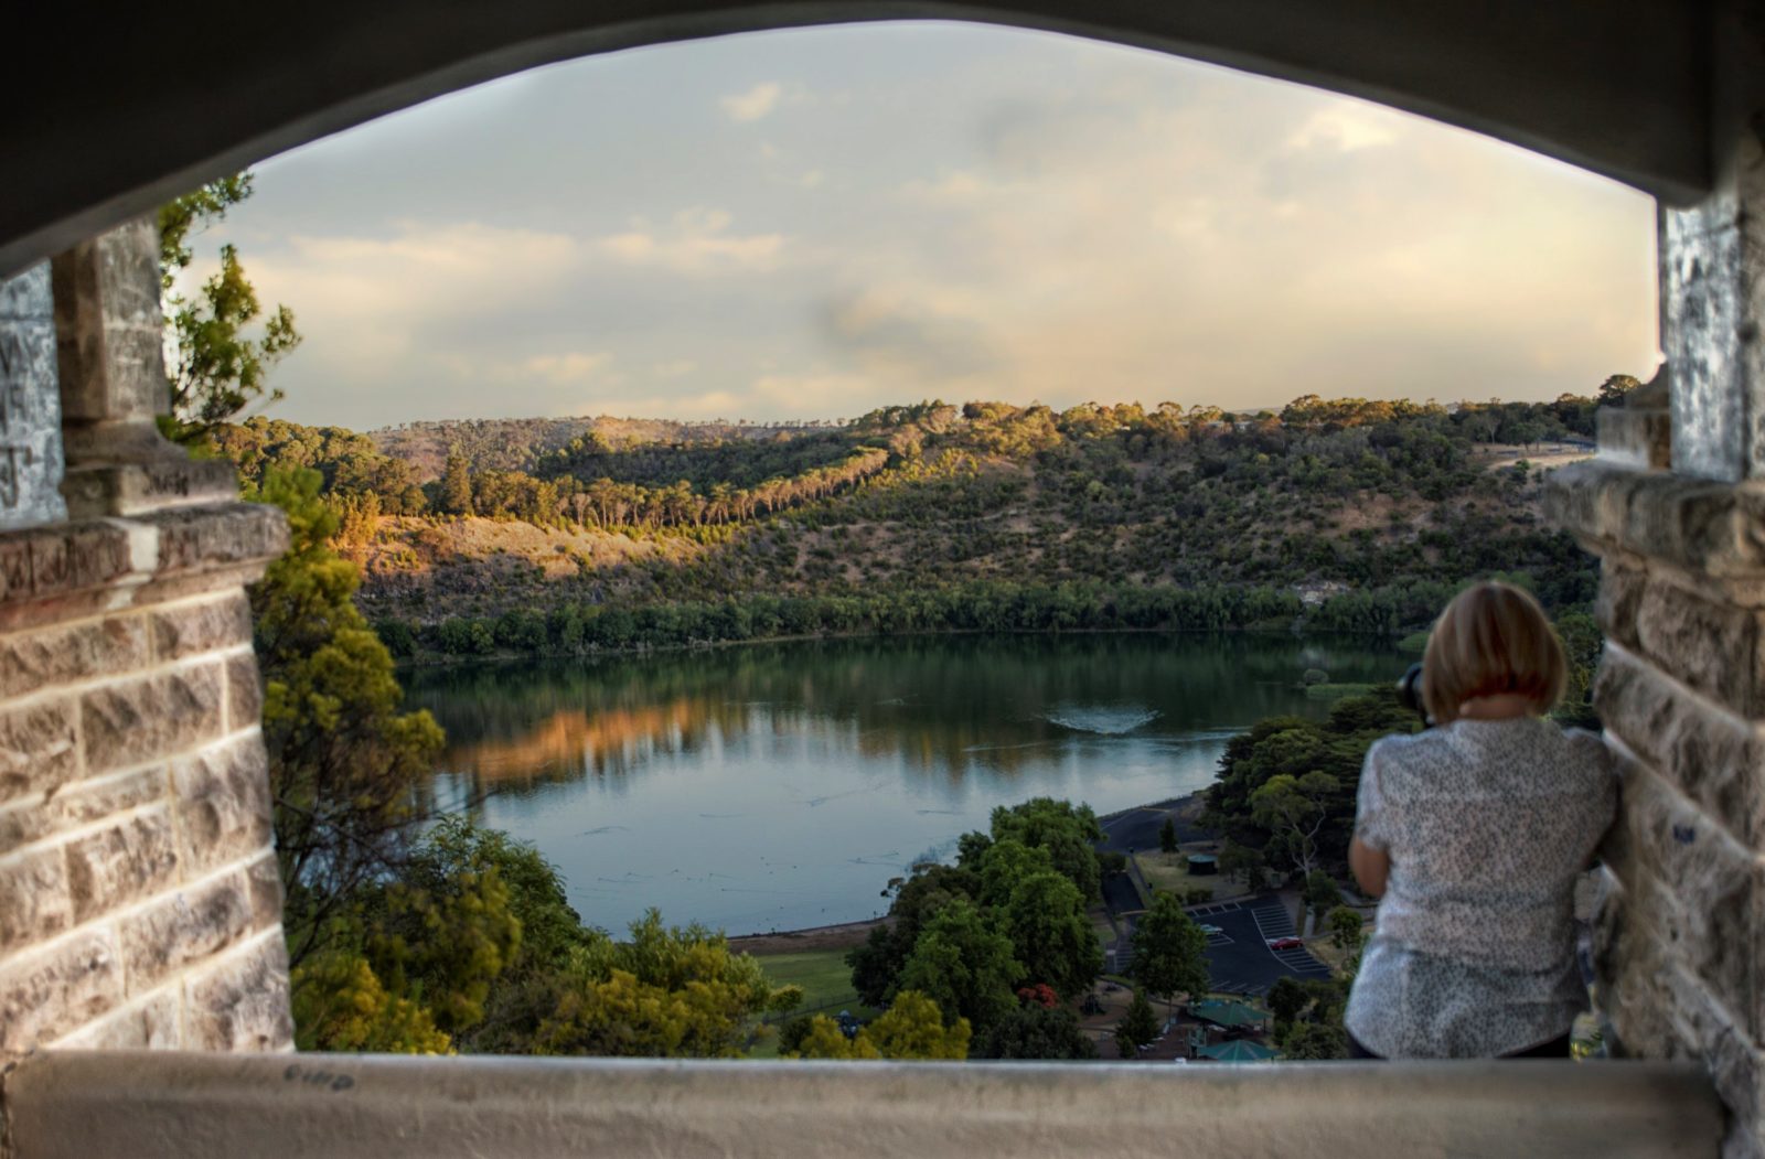
[[[1324,714],[1327,702],[1296,690],[1306,667],[1368,681],[1400,665],[1384,647],[1292,637],[944,635],[422,672],[411,704],[436,714],[450,743],[443,767],[477,790],[614,781],[662,755],[770,736],[958,781],[1013,776],[1063,741],[1096,739],[1048,720],[1063,707],[1156,713],[1154,736],[1228,729]]]

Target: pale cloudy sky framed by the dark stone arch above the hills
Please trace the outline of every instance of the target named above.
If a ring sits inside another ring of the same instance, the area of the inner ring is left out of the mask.
[[[198,243],[293,309],[268,413],[307,423],[1555,399],[1659,360],[1645,194],[1054,34],[590,56],[256,175]]]

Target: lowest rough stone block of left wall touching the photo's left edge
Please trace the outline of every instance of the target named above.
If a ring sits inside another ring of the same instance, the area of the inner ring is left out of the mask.
[[[122,1002],[122,958],[106,930],[0,961],[0,1051],[25,1051]]]

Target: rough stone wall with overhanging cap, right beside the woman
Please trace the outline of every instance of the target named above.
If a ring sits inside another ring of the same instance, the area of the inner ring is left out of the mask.
[[[1615,1053],[1694,1058],[1760,1155],[1765,1041],[1765,494],[1627,462],[1560,471],[1601,556],[1596,704],[1622,774],[1596,917]]]

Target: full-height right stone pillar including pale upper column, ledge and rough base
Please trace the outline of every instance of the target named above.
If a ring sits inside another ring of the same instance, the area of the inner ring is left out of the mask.
[[[1717,192],[1663,210],[1668,363],[1546,506],[1601,557],[1594,702],[1624,778],[1596,1000],[1613,1050],[1696,1058],[1765,1155],[1765,5],[1714,5]],[[1751,109],[1751,111],[1749,111]]]

